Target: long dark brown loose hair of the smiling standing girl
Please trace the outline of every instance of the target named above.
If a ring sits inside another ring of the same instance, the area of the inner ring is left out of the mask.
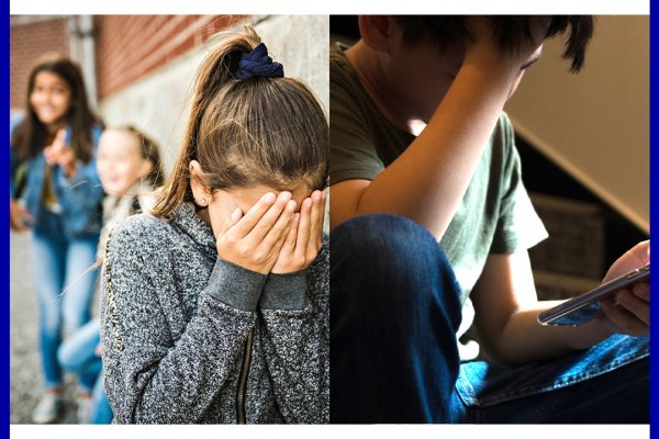
[[[36,76],[42,71],[57,75],[69,86],[71,102],[66,121],[71,128],[70,147],[79,160],[88,164],[93,156],[91,127],[93,125],[102,126],[102,123],[89,108],[80,68],[69,58],[59,54],[45,55],[30,72],[25,103],[26,115],[11,139],[12,145],[16,148],[16,157],[21,161],[29,160],[40,154],[54,138],[54,134],[48,133],[47,127],[38,120],[30,103]]]

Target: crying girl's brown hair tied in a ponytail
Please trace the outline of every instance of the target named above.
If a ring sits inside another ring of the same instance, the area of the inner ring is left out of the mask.
[[[211,192],[256,184],[292,190],[301,182],[325,187],[330,131],[313,93],[291,78],[235,77],[243,54],[259,43],[247,26],[202,63],[183,144],[154,215],[168,217],[192,200],[191,160],[201,165]]]

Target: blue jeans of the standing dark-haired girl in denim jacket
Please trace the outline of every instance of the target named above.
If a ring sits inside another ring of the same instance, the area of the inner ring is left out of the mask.
[[[62,385],[57,349],[63,330],[72,334],[90,318],[97,286],[93,268],[99,235],[67,239],[62,217],[44,210],[33,230],[32,270],[38,301],[38,340],[46,387]],[[79,375],[91,389],[96,376]]]

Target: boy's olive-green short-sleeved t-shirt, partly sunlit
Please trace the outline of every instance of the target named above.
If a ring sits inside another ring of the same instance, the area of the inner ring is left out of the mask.
[[[330,55],[331,184],[373,180],[414,140],[369,98],[336,45]],[[499,117],[461,204],[439,241],[462,288],[462,303],[489,254],[512,254],[547,237],[522,182],[512,124]]]

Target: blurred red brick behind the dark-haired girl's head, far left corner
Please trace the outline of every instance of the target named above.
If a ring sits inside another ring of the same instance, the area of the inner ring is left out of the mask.
[[[10,16],[10,108],[23,109],[27,75],[35,60],[48,52],[69,53],[68,19]]]

